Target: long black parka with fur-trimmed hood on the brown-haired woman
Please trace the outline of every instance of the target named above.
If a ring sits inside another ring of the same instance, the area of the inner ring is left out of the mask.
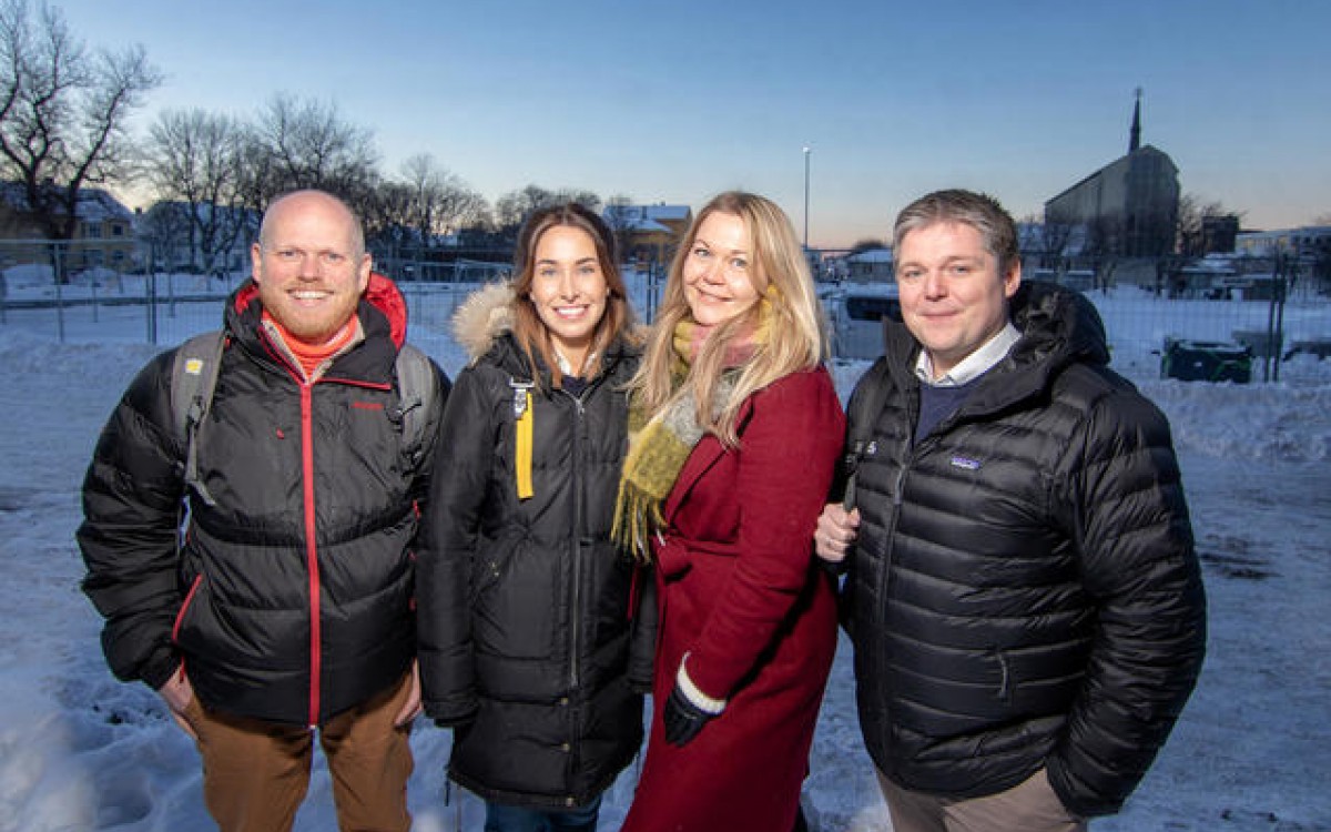
[[[612,346],[579,395],[543,373],[531,390],[532,497],[519,499],[514,402],[526,394],[512,382],[532,378],[507,298],[484,290],[455,327],[480,357],[445,415],[418,563],[421,676],[426,714],[458,727],[454,780],[499,803],[568,808],[638,752],[638,691],[651,683],[654,580],[610,540],[638,353]]]

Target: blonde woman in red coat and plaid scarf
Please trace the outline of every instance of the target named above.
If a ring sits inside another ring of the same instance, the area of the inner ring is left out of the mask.
[[[845,419],[789,220],[723,193],[671,266],[632,382],[616,534],[656,566],[651,739],[624,832],[784,832],[832,655],[811,539]]]

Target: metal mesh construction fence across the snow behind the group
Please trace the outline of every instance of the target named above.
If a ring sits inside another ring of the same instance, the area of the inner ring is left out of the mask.
[[[222,300],[246,277],[241,272],[154,274],[95,266],[57,281],[49,262],[15,262],[13,253],[8,254],[8,265],[0,269],[0,330],[21,329],[61,342],[178,343],[218,326]],[[508,276],[507,266],[492,262],[459,261],[450,265],[449,274],[431,276],[437,280],[418,280],[422,270],[410,264],[399,264],[399,269],[390,277],[407,298],[413,331],[441,338],[447,337],[454,310],[471,292]],[[626,284],[639,318],[650,322],[664,285],[664,269],[626,266]],[[856,286],[820,285],[833,326],[865,323],[845,315],[845,298]],[[1115,369],[1131,378],[1169,374],[1209,381],[1279,381],[1288,361],[1331,355],[1331,298],[1312,286],[1263,300],[1170,298],[1138,286],[1093,289],[1086,294],[1105,319]],[[839,342],[833,338],[833,343]],[[836,355],[843,361],[868,357]],[[1247,365],[1246,378],[1235,375],[1231,359]],[[1181,369],[1185,365],[1187,369]]]

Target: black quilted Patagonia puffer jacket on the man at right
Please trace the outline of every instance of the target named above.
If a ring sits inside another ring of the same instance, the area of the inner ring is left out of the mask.
[[[1047,765],[1069,809],[1109,813],[1201,668],[1193,532],[1169,425],[1107,369],[1094,308],[1025,284],[1013,322],[1022,339],[918,445],[904,326],[852,397],[852,438],[884,402],[848,583],[860,722],[905,788],[974,797]]]

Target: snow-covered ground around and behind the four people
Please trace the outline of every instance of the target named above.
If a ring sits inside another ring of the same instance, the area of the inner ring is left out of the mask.
[[[25,293],[16,284],[11,300]],[[413,339],[454,373],[462,353],[443,325],[463,290],[430,292],[413,297]],[[1131,290],[1097,304],[1115,366],[1173,423],[1211,628],[1201,683],[1169,745],[1125,812],[1094,828],[1331,829],[1331,359],[1296,355],[1282,365],[1279,383],[1159,381],[1149,345],[1162,335],[1227,339],[1248,318],[1264,323],[1263,309],[1235,304],[1244,319],[1209,323],[1210,333],[1197,331],[1197,321],[1210,321],[1215,302],[1205,318],[1195,318],[1191,302]],[[0,832],[206,829],[193,745],[154,694],[106,671],[100,620],[77,588],[73,530],[84,469],[125,385],[157,351],[142,343],[142,308],[96,314],[68,310],[64,343],[49,310],[9,310],[0,319]],[[181,304],[177,317],[158,322],[158,341],[177,342],[217,321],[216,302]],[[1286,322],[1300,335],[1331,334],[1324,302],[1291,305]],[[843,394],[866,366],[835,365]],[[849,647],[841,647],[807,803],[820,829],[885,832],[860,744]],[[454,788],[445,805],[449,733],[421,723],[413,748],[415,828],[446,832],[461,819],[462,828],[479,829],[479,800]],[[634,773],[608,792],[603,829],[623,819]],[[335,828],[322,763],[297,828]]]

